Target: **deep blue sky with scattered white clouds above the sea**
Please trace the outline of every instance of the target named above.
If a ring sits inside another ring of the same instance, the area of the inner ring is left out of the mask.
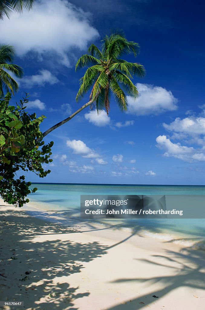
[[[124,59],[144,64],[134,78],[140,97],[127,113],[111,100],[109,117],[89,108],[49,134],[52,172],[35,182],[204,184],[205,102],[203,1],[38,1],[33,11],[0,21],[1,42],[16,49],[24,68],[20,90],[30,94],[28,112],[46,115],[41,130],[82,104],[75,96],[76,60],[110,29],[123,29],[141,53]],[[87,100],[87,101],[86,101]]]

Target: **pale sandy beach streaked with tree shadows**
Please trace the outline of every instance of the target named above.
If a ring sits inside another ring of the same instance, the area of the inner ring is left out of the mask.
[[[4,309],[204,309],[204,251],[2,200],[0,210],[1,301],[24,302]]]

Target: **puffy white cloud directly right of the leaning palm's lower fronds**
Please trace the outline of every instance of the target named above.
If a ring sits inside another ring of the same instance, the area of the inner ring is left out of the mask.
[[[128,96],[128,113],[150,115],[177,109],[177,99],[171,91],[149,84],[137,83],[136,86],[140,95],[136,100]]]

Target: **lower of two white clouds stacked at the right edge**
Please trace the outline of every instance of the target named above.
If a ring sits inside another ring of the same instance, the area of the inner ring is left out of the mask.
[[[165,150],[165,157],[175,157],[186,162],[205,161],[204,148],[197,150],[193,147],[183,146],[179,142],[172,143],[166,135],[157,137],[156,142],[158,148]]]

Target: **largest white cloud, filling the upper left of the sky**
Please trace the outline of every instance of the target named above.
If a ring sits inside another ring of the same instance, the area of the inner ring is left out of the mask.
[[[70,66],[67,52],[85,50],[98,31],[89,23],[89,15],[66,0],[40,0],[31,11],[0,21],[1,41],[15,46],[16,54],[29,51],[42,55],[57,53],[58,61]]]

